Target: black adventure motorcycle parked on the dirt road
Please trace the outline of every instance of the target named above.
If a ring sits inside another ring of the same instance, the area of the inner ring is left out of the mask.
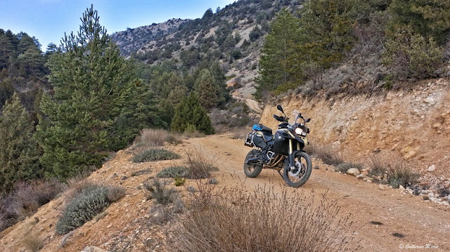
[[[304,152],[304,145],[309,144],[307,134],[309,128],[306,124],[311,119],[304,119],[302,114],[297,114],[294,124],[288,123],[288,117],[283,112],[283,107],[277,105],[284,117],[274,114],[274,118],[280,121],[278,131],[272,135],[271,128],[262,124],[255,124],[253,131],[247,135],[245,145],[255,147],[248,152],[244,161],[244,173],[250,178],[255,178],[263,168],[274,169],[291,187],[300,187],[307,182],[312,171],[311,157]],[[297,119],[303,122],[297,123]]]

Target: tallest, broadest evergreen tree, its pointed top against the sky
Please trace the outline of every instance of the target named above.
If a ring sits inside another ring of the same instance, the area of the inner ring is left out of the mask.
[[[161,126],[152,97],[86,9],[77,36],[65,36],[49,60],[54,95],[43,95],[37,138],[41,163],[60,179],[100,166],[109,150],[127,145],[143,126]]]

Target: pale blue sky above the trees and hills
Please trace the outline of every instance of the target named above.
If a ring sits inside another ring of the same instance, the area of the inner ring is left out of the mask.
[[[164,22],[171,18],[201,18],[207,8],[215,12],[235,0],[1,0],[0,28],[36,37],[42,51],[60,44],[64,32],[77,32],[79,18],[94,4],[108,34]]]

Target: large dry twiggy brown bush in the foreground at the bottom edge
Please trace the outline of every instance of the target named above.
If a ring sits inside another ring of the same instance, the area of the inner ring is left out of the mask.
[[[174,234],[175,251],[348,251],[353,239],[353,223],[326,194],[259,188],[197,200]]]

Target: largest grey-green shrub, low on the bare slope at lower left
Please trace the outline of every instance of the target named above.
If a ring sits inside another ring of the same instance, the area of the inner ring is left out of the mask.
[[[56,223],[56,233],[67,234],[103,212],[110,204],[106,187],[89,187],[80,192],[65,208]]]

